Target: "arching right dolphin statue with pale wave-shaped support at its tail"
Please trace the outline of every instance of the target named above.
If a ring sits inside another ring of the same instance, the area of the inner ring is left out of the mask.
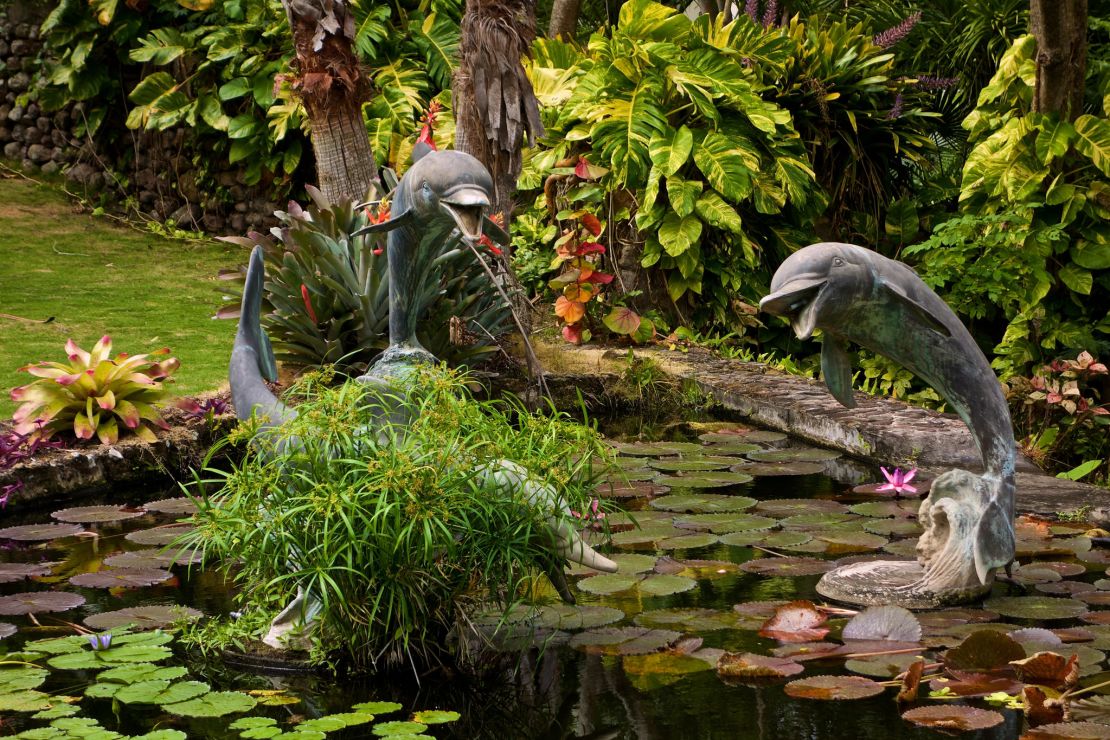
[[[1001,385],[971,334],[910,267],[852,244],[791,254],[770,290],[763,311],[789,318],[798,338],[821,330],[821,375],[841,404],[856,405],[845,349],[854,342],[935,387],[967,424],[985,473],[952,470],[934,483],[921,509],[925,572],[914,588],[940,594],[989,585],[993,570],[1013,559],[1016,447]]]

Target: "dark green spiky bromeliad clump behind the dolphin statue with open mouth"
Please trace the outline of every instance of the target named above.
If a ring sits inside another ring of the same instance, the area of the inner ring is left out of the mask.
[[[307,187],[306,209],[291,202],[279,211],[281,229],[223,241],[262,246],[266,283],[262,325],[278,359],[293,366],[335,365],[343,374],[361,371],[389,344],[387,255],[380,237],[352,237],[371,219],[385,217],[351,201],[329,203]],[[377,209],[381,211],[381,209]],[[473,253],[447,240],[420,290],[421,344],[452,365],[471,364],[493,352],[508,308],[475,263]],[[242,272],[224,277],[242,280]],[[220,310],[238,316],[239,295]]]

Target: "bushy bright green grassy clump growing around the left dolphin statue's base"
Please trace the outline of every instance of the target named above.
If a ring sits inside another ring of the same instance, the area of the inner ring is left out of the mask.
[[[562,567],[547,517],[574,523],[483,470],[512,460],[586,510],[612,453],[589,426],[476,401],[465,381],[427,368],[396,396],[312,375],[291,389],[297,418],[255,438],[199,498],[195,544],[238,582],[244,610],[300,586],[322,602],[315,659],[428,665],[451,658],[463,614],[511,608],[537,571]]]

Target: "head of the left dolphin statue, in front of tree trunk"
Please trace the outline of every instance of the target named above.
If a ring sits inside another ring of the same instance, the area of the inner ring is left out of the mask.
[[[447,217],[463,236],[482,236],[482,216],[490,209],[493,179],[465,152],[428,152],[405,173],[417,222]]]

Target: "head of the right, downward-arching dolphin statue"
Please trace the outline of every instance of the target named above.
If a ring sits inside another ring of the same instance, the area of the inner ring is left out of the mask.
[[[854,244],[823,242],[788,256],[770,281],[759,308],[790,321],[799,339],[836,323],[837,316],[870,292],[870,252]]]

